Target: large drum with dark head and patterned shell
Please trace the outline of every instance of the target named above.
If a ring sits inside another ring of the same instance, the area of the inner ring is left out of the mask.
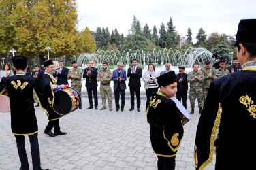
[[[57,114],[66,115],[78,109],[81,97],[75,88],[64,88],[54,92],[53,109]]]

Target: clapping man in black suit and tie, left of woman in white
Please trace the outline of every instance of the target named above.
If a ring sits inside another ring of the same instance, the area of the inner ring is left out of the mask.
[[[138,67],[138,60],[133,58],[132,67],[127,71],[127,78],[129,79],[128,86],[130,87],[131,95],[131,109],[134,109],[134,92],[136,92],[137,98],[137,111],[140,112],[140,78],[142,78],[142,69]]]

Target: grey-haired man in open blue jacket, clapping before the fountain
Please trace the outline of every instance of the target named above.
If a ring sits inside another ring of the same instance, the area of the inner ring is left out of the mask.
[[[112,80],[114,81],[114,99],[116,103],[116,111],[119,110],[119,96],[121,95],[121,111],[125,107],[125,89],[126,89],[126,71],[123,70],[123,63],[117,63],[117,69],[113,71]]]

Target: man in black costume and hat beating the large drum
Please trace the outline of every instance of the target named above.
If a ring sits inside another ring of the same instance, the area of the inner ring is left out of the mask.
[[[52,76],[52,73],[54,73],[54,63],[51,60],[44,62],[44,67],[46,68],[46,70],[44,72],[44,75],[41,78],[42,94],[38,95],[41,101],[39,105],[47,113],[48,119],[49,119],[48,125],[46,126],[44,133],[46,133],[50,137],[54,137],[57,135],[65,135],[67,133],[62,132],[59,126],[59,118],[62,118],[63,116],[60,114],[57,114],[52,108],[54,105],[53,90],[56,88],[59,88],[60,86],[64,88],[64,85],[63,84],[57,85],[54,77]],[[54,134],[51,131],[53,127],[54,127]]]

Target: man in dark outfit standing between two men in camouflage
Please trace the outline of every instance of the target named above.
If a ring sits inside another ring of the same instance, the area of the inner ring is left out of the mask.
[[[93,109],[93,97],[95,109],[98,109],[98,96],[97,96],[97,68],[93,67],[93,61],[88,62],[87,68],[84,69],[83,78],[86,78],[86,88],[90,106],[86,109]]]

